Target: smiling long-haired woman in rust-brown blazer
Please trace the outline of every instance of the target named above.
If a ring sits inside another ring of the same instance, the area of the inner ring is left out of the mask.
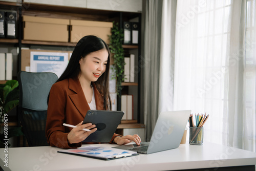
[[[51,146],[76,148],[97,128],[92,123],[82,124],[88,110],[111,110],[109,95],[110,50],[96,36],[81,38],[66,70],[53,84],[48,101],[46,137]],[[71,129],[62,124],[77,127]],[[91,129],[91,132],[82,129]],[[111,142],[119,145],[134,141],[138,135],[114,134]]]

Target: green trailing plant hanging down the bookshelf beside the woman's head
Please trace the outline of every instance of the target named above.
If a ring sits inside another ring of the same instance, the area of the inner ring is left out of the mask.
[[[123,31],[119,29],[118,23],[113,22],[113,28],[111,30],[110,39],[110,52],[113,54],[113,67],[112,70],[115,72],[116,90],[120,96],[122,89],[121,83],[124,81],[124,50],[122,47],[123,42]]]

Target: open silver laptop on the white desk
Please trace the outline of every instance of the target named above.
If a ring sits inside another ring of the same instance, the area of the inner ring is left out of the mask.
[[[177,148],[180,145],[191,110],[161,112],[150,142],[140,145],[128,144],[113,148],[127,149],[142,154],[151,154]]]

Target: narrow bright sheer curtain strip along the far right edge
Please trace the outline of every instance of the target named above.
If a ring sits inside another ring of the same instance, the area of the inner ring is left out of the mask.
[[[245,149],[253,152],[255,149],[255,105],[256,105],[256,4],[255,0],[246,2],[246,59],[245,59]]]

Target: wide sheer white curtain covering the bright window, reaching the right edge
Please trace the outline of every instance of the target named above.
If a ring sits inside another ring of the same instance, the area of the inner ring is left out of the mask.
[[[255,0],[249,2],[255,11]],[[253,39],[247,44],[246,0],[177,3],[174,110],[209,114],[205,141],[250,151],[255,151],[253,29],[254,23],[247,25]]]

